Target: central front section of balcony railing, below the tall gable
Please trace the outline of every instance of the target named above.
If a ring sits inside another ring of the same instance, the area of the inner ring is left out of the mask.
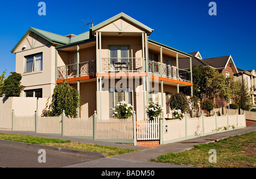
[[[143,72],[142,58],[102,58],[102,71]]]

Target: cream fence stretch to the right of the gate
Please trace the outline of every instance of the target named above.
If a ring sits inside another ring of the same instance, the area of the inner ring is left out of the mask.
[[[246,120],[245,114],[198,118],[186,114],[182,120],[163,120],[163,127],[163,143],[170,143],[246,127]]]

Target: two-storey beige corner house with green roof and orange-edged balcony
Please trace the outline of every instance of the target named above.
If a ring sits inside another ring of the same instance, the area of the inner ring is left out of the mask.
[[[61,36],[30,28],[11,51],[16,72],[26,86],[22,96],[52,95],[67,79],[81,95],[79,117],[112,118],[119,101],[133,105],[138,120],[146,119],[146,105],[179,87],[193,86],[191,55],[148,39],[154,30],[123,12],[80,35]],[[190,64],[179,68],[179,59]]]

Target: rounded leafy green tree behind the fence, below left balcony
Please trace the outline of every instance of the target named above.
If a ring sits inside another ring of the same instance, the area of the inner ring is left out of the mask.
[[[77,117],[77,108],[81,108],[80,100],[79,92],[69,86],[67,81],[64,81],[54,88],[49,110],[52,110],[53,116],[60,116],[65,110],[67,117],[75,118]]]

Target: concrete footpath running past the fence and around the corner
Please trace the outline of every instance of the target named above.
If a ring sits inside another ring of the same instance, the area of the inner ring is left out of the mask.
[[[101,142],[98,140],[60,137],[57,135],[44,135],[44,134],[13,132],[13,131],[3,131],[3,130],[0,130],[0,133],[24,134],[24,135],[33,135],[38,137],[46,137],[46,138],[59,138],[62,140],[71,140],[72,142],[92,143],[92,144],[100,144],[104,146],[116,146],[116,147],[132,148],[135,150],[139,150],[138,152],[115,155],[115,156],[112,156],[111,158],[104,157],[98,160],[92,160],[92,161],[79,163],[75,165],[69,165],[67,166],[68,168],[180,168],[180,167],[186,167],[186,166],[151,163],[148,160],[155,159],[156,157],[163,154],[167,154],[169,152],[180,152],[180,151],[190,150],[193,146],[197,144],[216,142],[218,140],[225,139],[227,137],[233,137],[236,135],[250,133],[251,131],[256,131],[256,125],[252,125],[243,129],[230,130],[224,133],[207,135],[200,138],[194,138],[189,140],[183,140],[180,142],[164,144],[154,148],[131,146],[127,144],[117,144],[117,143],[110,143],[110,142]]]

